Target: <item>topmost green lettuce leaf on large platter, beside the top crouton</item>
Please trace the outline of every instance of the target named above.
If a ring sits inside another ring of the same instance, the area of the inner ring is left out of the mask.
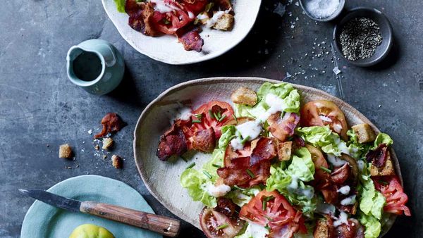
[[[258,103],[255,106],[247,106],[235,104],[235,115],[238,117],[247,116],[250,118],[258,118],[269,109],[269,105],[265,102],[267,94],[274,94],[283,99],[283,111],[290,113],[298,113],[300,111],[300,94],[293,85],[286,82],[271,84],[265,82],[257,91]]]

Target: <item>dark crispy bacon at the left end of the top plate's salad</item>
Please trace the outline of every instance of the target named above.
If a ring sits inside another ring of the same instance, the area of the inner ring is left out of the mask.
[[[159,35],[159,32],[154,28],[154,7],[151,2],[126,0],[125,11],[129,15],[128,25],[134,30],[152,37]]]

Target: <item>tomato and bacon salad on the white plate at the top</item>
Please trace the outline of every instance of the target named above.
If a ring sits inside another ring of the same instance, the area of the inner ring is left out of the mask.
[[[202,51],[201,27],[230,31],[235,18],[231,0],[115,0],[128,13],[128,25],[143,35],[175,35],[187,51]]]

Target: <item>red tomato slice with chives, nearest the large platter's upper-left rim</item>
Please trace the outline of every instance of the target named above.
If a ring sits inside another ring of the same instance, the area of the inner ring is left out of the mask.
[[[233,108],[224,101],[210,101],[197,108],[193,114],[192,120],[200,120],[200,123],[193,123],[193,126],[199,129],[213,127],[216,139],[219,139],[221,137],[221,127],[233,118]]]

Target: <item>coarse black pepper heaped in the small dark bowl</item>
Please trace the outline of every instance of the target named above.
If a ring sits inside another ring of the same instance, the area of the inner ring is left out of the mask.
[[[369,18],[354,18],[345,23],[339,40],[343,56],[350,61],[372,57],[382,43],[379,25]]]

